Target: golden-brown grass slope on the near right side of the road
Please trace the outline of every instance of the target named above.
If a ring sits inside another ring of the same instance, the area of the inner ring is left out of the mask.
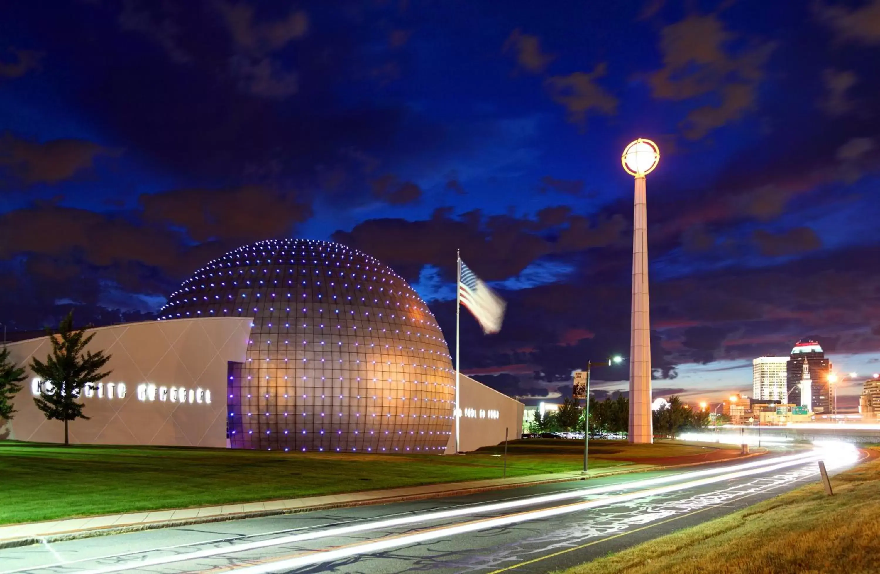
[[[880,571],[880,460],[565,574]]]

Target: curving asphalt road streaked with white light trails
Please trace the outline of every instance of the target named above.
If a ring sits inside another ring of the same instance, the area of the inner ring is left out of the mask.
[[[734,512],[852,466],[845,447],[392,505],[0,550],[12,572],[546,572]]]

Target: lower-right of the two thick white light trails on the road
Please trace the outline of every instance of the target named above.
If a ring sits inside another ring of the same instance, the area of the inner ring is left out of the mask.
[[[836,446],[836,445],[835,445]],[[825,448],[821,449],[825,451]],[[818,453],[817,453],[818,454]],[[824,453],[823,453],[824,454]],[[817,459],[820,458],[818,455],[814,455],[810,458]],[[834,455],[832,457],[834,459],[835,466],[840,464],[843,460],[839,454]],[[854,459],[853,459],[854,460]],[[717,483],[721,481],[730,480],[733,478],[739,478],[741,476],[749,476],[754,474],[759,474],[762,472],[768,472],[772,470],[784,469],[786,467],[790,467],[796,464],[801,464],[803,461],[785,461],[778,464],[771,464],[766,467],[758,468],[758,469],[745,469],[740,470],[738,472],[731,472],[728,474],[724,474],[721,476],[711,476],[708,478],[700,478],[698,480],[689,481],[686,483],[678,483],[671,484],[668,486],[656,487],[648,490],[638,490],[635,492],[631,492],[629,494],[616,495],[607,498],[598,498],[596,500],[588,500],[586,502],[575,503],[570,505],[562,505],[555,506],[553,508],[544,508],[539,510],[533,510],[528,512],[520,512],[517,514],[511,514],[508,516],[502,516],[495,519],[488,520],[477,520],[468,524],[460,524],[451,527],[439,527],[429,530],[428,532],[421,532],[415,534],[403,534],[400,536],[393,536],[392,538],[387,538],[385,540],[379,540],[374,542],[364,542],[362,544],[356,544],[350,546],[348,548],[341,548],[335,550],[320,550],[316,552],[312,552],[305,556],[297,556],[295,558],[289,558],[286,560],[276,561],[274,563],[268,564],[260,564],[258,566],[246,566],[244,568],[239,568],[234,570],[239,572],[239,574],[269,574],[271,572],[276,572],[279,570],[291,570],[296,568],[303,568],[305,566],[310,566],[312,564],[317,563],[327,563],[333,562],[334,560],[340,560],[341,558],[347,558],[348,556],[358,556],[364,554],[373,554],[376,552],[381,552],[383,550],[399,548],[400,546],[407,546],[409,544],[415,544],[424,541],[436,540],[437,538],[444,538],[445,536],[452,536],[456,534],[466,534],[469,532],[475,532],[478,530],[487,530],[489,528],[496,527],[504,527],[511,524],[516,524],[518,522],[524,522],[527,520],[539,520],[546,519],[553,516],[558,516],[561,514],[568,514],[570,512],[578,512],[587,510],[590,508],[597,508],[599,506],[605,505],[614,505],[620,502],[626,502],[629,500],[635,500],[638,498],[648,498],[661,494],[666,494],[667,492],[673,492],[675,490],[686,490],[689,488],[695,488],[698,486],[703,486],[705,484]]]

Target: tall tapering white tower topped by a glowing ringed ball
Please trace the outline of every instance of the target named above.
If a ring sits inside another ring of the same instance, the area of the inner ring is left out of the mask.
[[[633,217],[633,301],[629,331],[629,442],[654,441],[651,418],[651,325],[648,297],[648,214],[645,176],[660,161],[650,140],[636,140],[623,151],[623,169],[635,178]]]

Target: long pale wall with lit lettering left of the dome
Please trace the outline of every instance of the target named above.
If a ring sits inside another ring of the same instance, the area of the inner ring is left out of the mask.
[[[95,337],[86,350],[110,354],[105,369],[113,373],[96,381],[103,385],[100,392],[95,389],[92,396],[81,396],[83,413],[90,420],[70,422],[70,442],[225,447],[228,361],[245,360],[251,321],[211,317],[123,323],[87,331]],[[47,420],[33,403],[37,380],[27,368],[32,357],[45,360],[52,351],[48,337],[7,347],[11,360],[26,367],[27,379],[13,402],[18,411],[14,418],[5,425],[0,419],[0,439],[63,442],[64,424]],[[108,383],[114,383],[113,398],[108,396]],[[125,385],[122,397],[120,383]],[[138,396],[142,384],[153,386],[154,398],[146,392]],[[169,389],[164,401],[159,396],[162,388]],[[177,389],[178,401],[170,400],[170,389]]]

